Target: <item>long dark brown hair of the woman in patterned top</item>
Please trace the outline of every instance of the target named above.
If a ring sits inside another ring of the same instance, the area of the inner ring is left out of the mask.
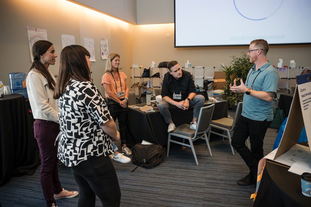
[[[90,57],[90,53],[80,45],[69,45],[62,50],[54,99],[58,99],[66,92],[66,86],[70,79],[91,81],[91,71],[85,56]]]

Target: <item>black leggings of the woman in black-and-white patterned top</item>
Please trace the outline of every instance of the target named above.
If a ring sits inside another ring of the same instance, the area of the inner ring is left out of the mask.
[[[95,206],[95,195],[103,206],[120,206],[119,182],[108,156],[91,156],[71,167],[71,172],[80,190],[78,207]]]

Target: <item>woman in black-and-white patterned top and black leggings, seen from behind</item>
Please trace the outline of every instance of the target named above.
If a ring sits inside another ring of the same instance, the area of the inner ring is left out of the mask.
[[[91,83],[90,53],[70,45],[60,55],[58,99],[60,135],[58,159],[68,167],[79,185],[78,206],[95,206],[95,194],[103,206],[119,206],[121,192],[114,166],[111,141],[118,133],[108,107]]]

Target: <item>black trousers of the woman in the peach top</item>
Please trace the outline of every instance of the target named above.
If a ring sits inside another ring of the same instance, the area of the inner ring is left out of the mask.
[[[123,99],[120,99],[123,100]],[[122,108],[120,104],[115,102],[114,100],[108,98],[107,100],[108,109],[110,115],[114,119],[114,122],[118,118],[119,123],[119,130],[120,130],[120,137],[121,137],[121,144],[128,143],[128,135],[127,135],[127,128],[128,128],[128,108]]]

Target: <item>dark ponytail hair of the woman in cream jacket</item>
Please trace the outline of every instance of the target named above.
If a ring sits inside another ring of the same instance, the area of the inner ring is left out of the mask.
[[[53,91],[55,89],[55,81],[52,78],[51,74],[44,67],[42,62],[40,61],[40,55],[43,55],[53,44],[46,40],[39,40],[35,42],[32,46],[32,56],[34,56],[34,62],[32,63],[28,73],[33,68],[36,69],[39,73],[43,75],[45,79],[48,81],[49,88]],[[26,78],[25,78],[26,80]]]

